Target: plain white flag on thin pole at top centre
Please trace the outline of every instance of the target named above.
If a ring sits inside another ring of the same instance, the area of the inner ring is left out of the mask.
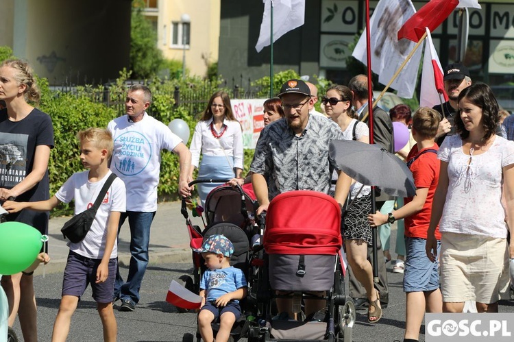
[[[260,24],[260,33],[255,49],[260,52],[263,47],[271,45],[271,6],[273,6],[273,42],[287,32],[304,25],[305,0],[262,0],[264,14]]]

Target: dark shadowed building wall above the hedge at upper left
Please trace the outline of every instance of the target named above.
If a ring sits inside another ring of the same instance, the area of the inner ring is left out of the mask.
[[[130,0],[0,0],[0,46],[51,85],[105,83],[129,66]]]

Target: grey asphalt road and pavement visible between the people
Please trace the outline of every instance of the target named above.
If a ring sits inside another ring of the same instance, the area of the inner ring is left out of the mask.
[[[68,249],[59,230],[67,218],[50,220],[49,251],[52,261],[34,274],[34,284],[38,302],[39,341],[50,341],[53,321],[56,317],[62,288],[62,271]],[[201,221],[195,218],[195,223]],[[119,239],[121,273],[127,274],[129,232],[127,225],[122,228]],[[391,232],[391,250],[394,250],[396,231]],[[118,341],[182,341],[186,332],[196,330],[195,314],[178,313],[165,302],[169,283],[184,273],[191,273],[191,249],[188,247],[188,234],[184,218],[180,215],[180,202],[159,204],[152,225],[150,240],[150,265],[143,280],[141,302],[134,313],[116,311],[119,334]],[[353,341],[393,342],[403,341],[404,293],[402,275],[391,272],[389,263],[389,306],[377,324],[367,323],[366,310],[358,310],[358,319],[353,330]],[[501,312],[514,312],[514,302],[500,305]],[[21,336],[19,324],[14,326]],[[424,330],[424,327],[422,327]],[[90,290],[82,297],[72,319],[69,341],[101,341],[101,322],[95,310],[95,302]],[[424,341],[421,334],[420,341]]]

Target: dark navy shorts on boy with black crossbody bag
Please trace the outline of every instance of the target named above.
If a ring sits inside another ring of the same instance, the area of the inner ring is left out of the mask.
[[[97,284],[97,269],[100,262],[101,259],[86,258],[70,251],[62,279],[62,295],[74,295],[80,299],[88,284],[91,284],[95,302],[102,304],[112,302],[117,259],[109,260],[107,280]]]

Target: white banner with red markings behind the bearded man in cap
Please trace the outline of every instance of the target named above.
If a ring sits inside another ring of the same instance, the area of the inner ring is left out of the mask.
[[[231,99],[230,105],[236,120],[243,128],[243,148],[254,149],[260,131],[264,128],[264,104],[266,99]]]

